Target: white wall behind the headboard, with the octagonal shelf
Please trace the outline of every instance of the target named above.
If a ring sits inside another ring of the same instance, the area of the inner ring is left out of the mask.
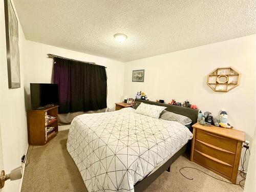
[[[126,62],[123,94],[134,98],[138,91],[144,91],[148,99],[164,99],[166,103],[188,99],[215,116],[226,110],[231,125],[245,131],[246,140],[251,142],[255,124],[255,38],[251,35]],[[227,66],[242,73],[241,84],[227,93],[214,92],[206,84],[207,75]],[[132,82],[132,70],[137,69],[145,69],[144,82]]]

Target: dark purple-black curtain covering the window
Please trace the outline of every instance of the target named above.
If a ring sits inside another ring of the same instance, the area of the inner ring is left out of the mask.
[[[105,67],[54,58],[53,73],[59,87],[59,113],[106,108]]]

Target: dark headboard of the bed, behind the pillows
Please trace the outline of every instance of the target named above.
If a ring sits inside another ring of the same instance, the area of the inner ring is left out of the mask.
[[[148,101],[148,100],[141,100],[141,99],[135,99],[135,100],[143,102],[143,103],[148,103],[148,104],[166,106],[165,110],[167,110],[169,112],[177,113],[177,114],[180,114],[180,115],[184,115],[184,116],[190,118],[192,120],[191,124],[195,124],[197,122],[198,110],[185,108],[184,106],[177,106],[177,105],[159,103],[159,102],[155,102],[155,101]]]

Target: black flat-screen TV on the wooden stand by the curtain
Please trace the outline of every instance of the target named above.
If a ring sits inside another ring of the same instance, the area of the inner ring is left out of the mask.
[[[30,97],[33,110],[58,104],[58,84],[30,83]]]

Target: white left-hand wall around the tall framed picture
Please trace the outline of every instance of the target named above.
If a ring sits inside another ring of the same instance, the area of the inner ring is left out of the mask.
[[[16,14],[17,15],[17,14]],[[4,1],[0,1],[0,131],[3,166],[8,174],[21,165],[20,156],[28,147],[27,118],[24,99],[25,37],[19,27],[20,88],[8,89]],[[18,191],[20,181],[7,181],[2,191]]]

